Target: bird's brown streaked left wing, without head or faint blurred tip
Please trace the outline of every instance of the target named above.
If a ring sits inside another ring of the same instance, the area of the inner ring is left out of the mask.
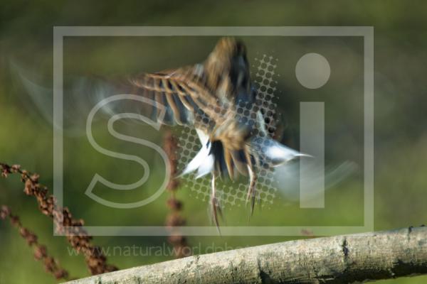
[[[217,115],[218,98],[206,87],[203,65],[130,77],[130,92],[155,102],[147,115],[167,125],[194,125]],[[126,83],[125,83],[126,84]],[[122,85],[125,85],[122,84]],[[162,117],[159,109],[165,109]],[[201,124],[199,127],[201,127]]]

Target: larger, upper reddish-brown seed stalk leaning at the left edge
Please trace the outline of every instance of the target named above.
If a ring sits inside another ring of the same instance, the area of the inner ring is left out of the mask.
[[[53,195],[48,195],[48,188],[38,182],[39,176],[21,170],[19,165],[7,165],[0,163],[1,176],[6,178],[11,173],[21,175],[21,181],[25,184],[23,192],[26,195],[36,197],[38,209],[53,219],[58,234],[66,234],[67,240],[73,249],[83,253],[86,264],[92,275],[117,271],[117,267],[107,264],[107,258],[99,246],[90,243],[92,236],[83,229],[83,219],[73,219],[67,207],[58,207]]]

